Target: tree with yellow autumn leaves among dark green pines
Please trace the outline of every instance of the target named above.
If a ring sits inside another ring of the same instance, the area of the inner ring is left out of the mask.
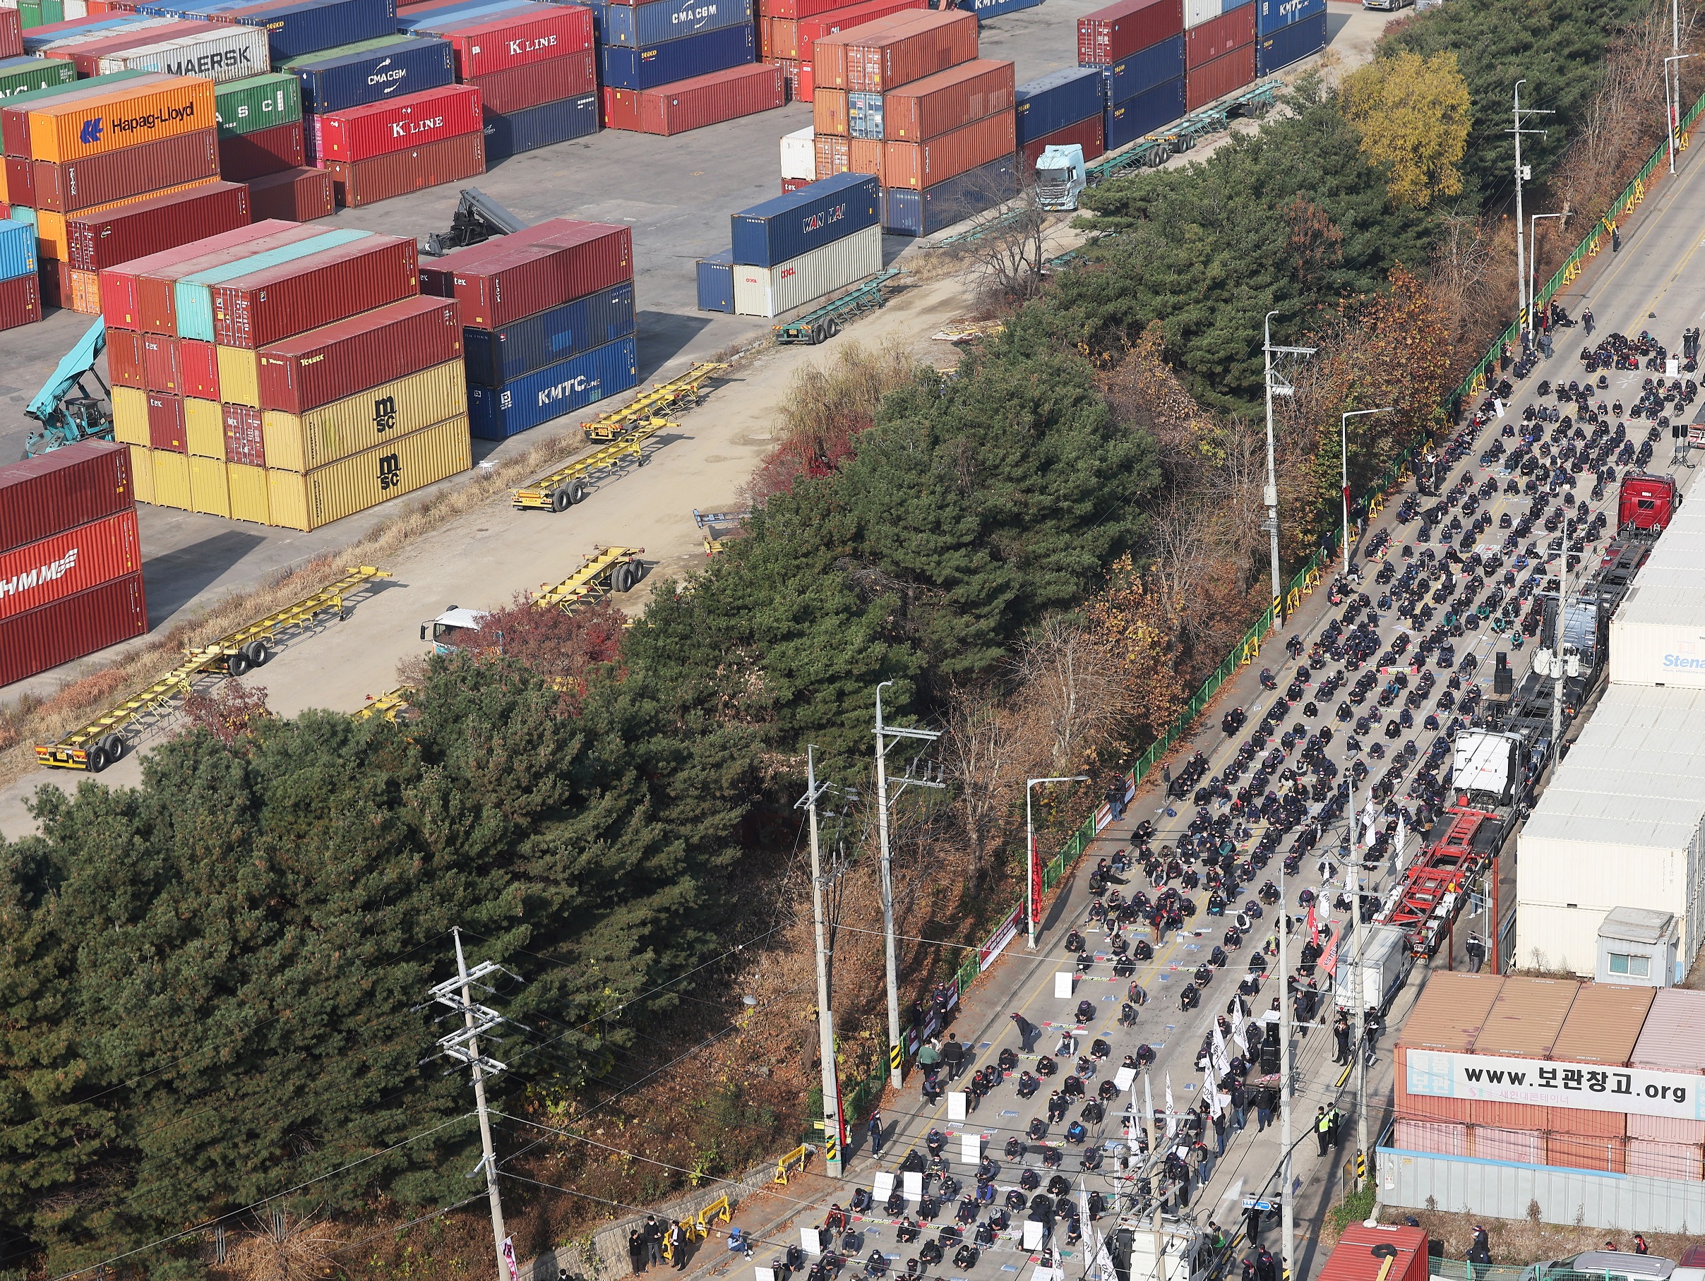
[[[1393,204],[1425,208],[1434,196],[1461,192],[1456,165],[1468,150],[1470,102],[1454,51],[1400,53],[1350,72],[1344,114],[1362,135],[1362,155],[1390,165]]]

